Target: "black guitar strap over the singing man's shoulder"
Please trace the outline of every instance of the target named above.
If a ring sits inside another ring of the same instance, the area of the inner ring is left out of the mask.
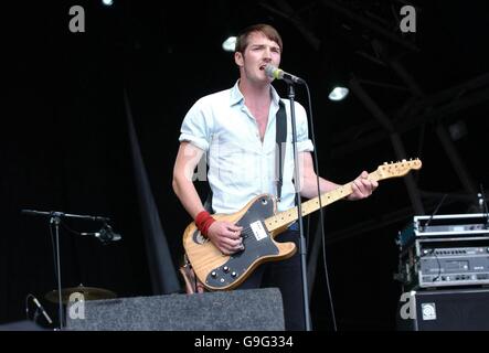
[[[277,201],[281,199],[281,185],[284,184],[284,159],[285,159],[285,142],[287,141],[287,114],[285,111],[285,104],[280,99],[279,108],[275,118],[276,127],[276,150],[275,157],[278,160],[278,170],[276,171],[277,179]],[[209,152],[208,152],[209,153]],[[205,156],[209,160],[209,154]],[[205,211],[212,213],[212,190],[208,184],[208,197],[204,202]]]

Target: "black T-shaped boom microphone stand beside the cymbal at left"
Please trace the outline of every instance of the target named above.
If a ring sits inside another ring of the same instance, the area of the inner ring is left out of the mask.
[[[60,330],[62,331],[64,328],[64,317],[63,317],[63,301],[61,295],[61,256],[60,256],[60,223],[61,217],[70,217],[70,218],[82,218],[82,220],[91,220],[91,221],[103,221],[108,222],[109,218],[99,217],[99,216],[87,216],[87,215],[77,215],[77,214],[68,214],[63,212],[43,212],[43,211],[33,211],[33,210],[22,210],[23,214],[28,215],[38,215],[38,216],[47,216],[50,218],[50,227],[54,224],[54,238],[55,238],[55,256],[56,256],[56,277],[57,277],[57,310],[60,315]]]

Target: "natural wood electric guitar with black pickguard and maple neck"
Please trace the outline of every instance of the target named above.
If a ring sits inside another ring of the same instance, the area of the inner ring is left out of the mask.
[[[384,163],[369,174],[369,180],[380,181],[407,174],[422,167],[419,159]],[[302,203],[302,216],[341,200],[353,192],[351,182]],[[262,194],[251,200],[234,214],[214,214],[217,221],[227,221],[243,227],[244,250],[223,255],[209,239],[202,236],[195,223],[183,233],[183,247],[199,280],[209,290],[230,290],[243,282],[253,270],[265,261],[289,258],[296,252],[294,243],[277,243],[274,237],[285,232],[298,218],[297,207],[276,212],[275,197]]]

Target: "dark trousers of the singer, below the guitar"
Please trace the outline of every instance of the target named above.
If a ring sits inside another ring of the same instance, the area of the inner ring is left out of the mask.
[[[297,249],[299,249],[299,232],[297,231],[288,229],[277,235],[275,240],[277,243],[294,242]],[[285,329],[287,331],[306,330],[300,255],[298,250],[286,260],[262,264],[240,286],[240,289],[270,287],[276,287],[281,292]]]

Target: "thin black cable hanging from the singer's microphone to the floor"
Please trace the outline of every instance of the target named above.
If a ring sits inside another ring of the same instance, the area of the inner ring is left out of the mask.
[[[306,90],[307,90],[307,99],[308,99],[308,105],[309,105],[309,125],[310,125],[310,131],[311,131],[311,140],[315,146],[313,161],[315,161],[315,168],[316,168],[316,180],[317,180],[317,185],[318,185],[319,214],[320,214],[320,220],[321,220],[320,226],[321,226],[321,237],[322,237],[322,261],[323,261],[323,266],[325,266],[326,289],[327,289],[328,296],[329,296],[332,324],[333,324],[333,330],[336,332],[336,331],[338,331],[338,327],[337,327],[337,318],[336,318],[336,313],[334,313],[333,298],[331,295],[331,286],[329,282],[328,261],[326,258],[325,216],[322,213],[321,190],[319,188],[319,163],[318,163],[318,150],[316,148],[315,125],[313,125],[313,119],[312,119],[312,103],[311,103],[309,86],[307,85],[307,83],[305,83],[305,86],[306,86]]]

